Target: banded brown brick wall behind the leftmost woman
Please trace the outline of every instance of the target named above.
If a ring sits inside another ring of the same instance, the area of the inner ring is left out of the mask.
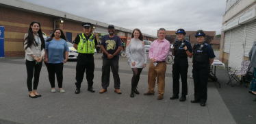
[[[47,35],[53,31],[53,18],[34,13],[23,12],[10,8],[0,8],[0,26],[5,27],[4,50],[5,57],[24,56],[23,39],[31,21],[41,24],[42,32]]]

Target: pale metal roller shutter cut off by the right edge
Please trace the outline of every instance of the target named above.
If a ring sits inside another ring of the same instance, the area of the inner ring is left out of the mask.
[[[253,46],[253,42],[256,40],[256,22],[248,23],[246,25],[246,39],[245,39],[245,46],[244,46],[244,54],[248,56],[248,53]]]

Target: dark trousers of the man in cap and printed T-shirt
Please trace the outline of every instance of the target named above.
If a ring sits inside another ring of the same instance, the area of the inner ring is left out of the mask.
[[[118,74],[118,60],[105,60],[102,63],[102,76],[101,76],[101,86],[102,88],[107,88],[110,85],[110,67],[114,77],[114,88],[120,89],[120,77]]]

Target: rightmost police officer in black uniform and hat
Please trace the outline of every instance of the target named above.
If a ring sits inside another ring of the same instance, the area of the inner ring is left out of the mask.
[[[193,48],[193,77],[194,77],[194,100],[192,103],[201,103],[205,106],[207,100],[207,82],[210,66],[214,62],[214,50],[205,43],[205,33],[196,32],[198,43]]]

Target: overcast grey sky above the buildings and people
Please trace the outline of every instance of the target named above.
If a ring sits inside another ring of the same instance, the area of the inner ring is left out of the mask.
[[[139,28],[157,36],[157,29],[203,29],[220,34],[226,0],[23,0],[103,23]],[[152,32],[153,30],[153,32]]]

